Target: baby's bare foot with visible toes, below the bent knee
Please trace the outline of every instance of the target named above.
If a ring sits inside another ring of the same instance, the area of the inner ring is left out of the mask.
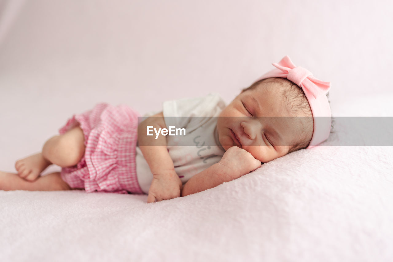
[[[27,158],[20,159],[15,163],[18,175],[29,181],[33,181],[46,169],[51,163],[46,160],[42,153],[38,153]]]

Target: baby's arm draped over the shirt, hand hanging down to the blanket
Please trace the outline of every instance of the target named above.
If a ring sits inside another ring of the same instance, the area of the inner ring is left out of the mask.
[[[148,117],[138,125],[138,144],[153,174],[147,202],[176,198],[180,196],[182,181],[174,171],[173,161],[167,150],[166,136],[151,139],[146,135],[147,126],[166,128],[162,112]]]

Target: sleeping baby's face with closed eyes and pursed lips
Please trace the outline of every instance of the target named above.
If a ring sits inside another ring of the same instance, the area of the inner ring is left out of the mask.
[[[288,154],[304,132],[307,117],[286,110],[278,83],[259,85],[241,92],[220,114],[217,122],[219,141],[225,150],[243,148],[265,163]],[[307,130],[312,136],[312,130]]]

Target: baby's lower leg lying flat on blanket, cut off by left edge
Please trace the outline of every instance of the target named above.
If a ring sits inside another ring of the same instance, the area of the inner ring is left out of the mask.
[[[70,186],[61,179],[59,172],[41,176],[35,181],[27,181],[18,174],[0,171],[0,190],[53,191],[70,189]]]

